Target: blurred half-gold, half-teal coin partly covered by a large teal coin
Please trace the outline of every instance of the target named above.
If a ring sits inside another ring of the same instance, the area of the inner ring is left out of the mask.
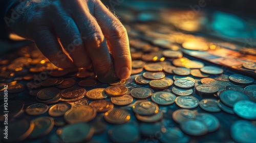
[[[173,112],[173,120],[180,124],[183,120],[186,120],[187,118],[195,118],[196,114],[192,110],[188,109],[178,109]]]

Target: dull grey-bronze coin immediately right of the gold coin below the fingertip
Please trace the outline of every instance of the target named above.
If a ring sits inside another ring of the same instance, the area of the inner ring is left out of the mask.
[[[137,99],[146,99],[151,96],[152,91],[148,88],[138,87],[138,88],[133,88],[130,94],[131,96]]]

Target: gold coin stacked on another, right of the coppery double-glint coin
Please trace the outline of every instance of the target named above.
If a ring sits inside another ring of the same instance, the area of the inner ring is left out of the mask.
[[[133,111],[139,115],[153,115],[158,113],[159,107],[152,101],[138,100],[133,106]]]

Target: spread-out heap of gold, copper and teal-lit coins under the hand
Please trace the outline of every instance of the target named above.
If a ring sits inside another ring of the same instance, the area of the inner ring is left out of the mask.
[[[233,128],[245,125],[255,131],[249,122],[256,120],[252,78],[185,58],[179,44],[133,40],[136,36],[130,41],[132,76],[126,80],[99,78],[92,69],[57,68],[33,46],[20,49],[14,60],[1,60],[0,90],[9,86],[11,141],[48,136],[46,142],[85,142],[107,131],[109,138],[104,139],[113,142],[146,137],[188,142],[193,136],[220,131],[221,115],[213,114],[221,111],[247,120],[231,126],[234,141],[247,141],[236,137],[238,129]],[[244,66],[253,68],[252,63]],[[0,110],[4,121],[4,105]],[[53,129],[56,133],[49,134]]]

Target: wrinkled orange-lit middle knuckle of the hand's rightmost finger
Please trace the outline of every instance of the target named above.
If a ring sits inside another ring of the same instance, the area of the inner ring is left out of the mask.
[[[121,39],[127,36],[127,31],[119,20],[114,20],[112,22],[110,36],[115,39]]]

